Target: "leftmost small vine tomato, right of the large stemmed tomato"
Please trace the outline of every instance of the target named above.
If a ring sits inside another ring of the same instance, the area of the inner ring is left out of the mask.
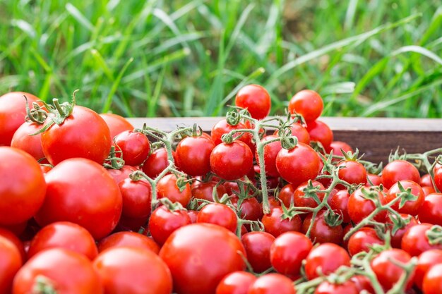
[[[125,130],[114,137],[114,145],[123,154],[124,164],[128,166],[139,166],[150,153],[150,142],[148,137],[140,132]]]

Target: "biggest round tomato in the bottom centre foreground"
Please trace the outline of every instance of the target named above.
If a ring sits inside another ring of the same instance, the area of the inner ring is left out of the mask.
[[[193,223],[172,233],[160,250],[177,294],[215,293],[227,274],[243,271],[246,251],[234,233],[211,223]]]

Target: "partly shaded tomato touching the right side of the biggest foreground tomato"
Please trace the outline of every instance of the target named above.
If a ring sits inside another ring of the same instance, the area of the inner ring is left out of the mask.
[[[250,232],[241,236],[241,242],[246,250],[247,260],[253,271],[261,273],[270,269],[270,246],[275,237],[265,232]]]

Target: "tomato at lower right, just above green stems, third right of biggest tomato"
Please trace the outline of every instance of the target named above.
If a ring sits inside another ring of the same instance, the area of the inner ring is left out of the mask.
[[[313,248],[306,257],[306,277],[309,280],[317,278],[320,271],[328,275],[343,265],[350,267],[350,256],[347,251],[336,244],[323,243]]]

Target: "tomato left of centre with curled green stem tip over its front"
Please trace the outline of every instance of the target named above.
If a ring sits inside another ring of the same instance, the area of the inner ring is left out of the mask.
[[[179,202],[183,207],[191,201],[191,185],[186,183],[184,190],[180,191],[177,186],[177,176],[168,174],[157,183],[157,197],[168,198],[172,202]]]

